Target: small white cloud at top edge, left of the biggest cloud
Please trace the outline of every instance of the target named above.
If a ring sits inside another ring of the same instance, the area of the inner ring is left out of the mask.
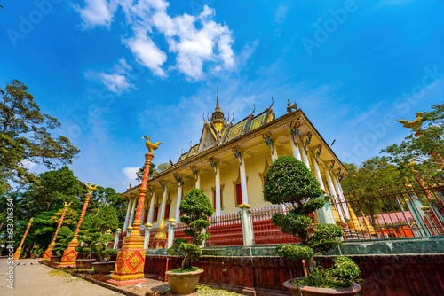
[[[109,27],[117,8],[115,1],[85,0],[85,6],[81,9],[75,5],[75,11],[80,13],[83,27],[105,26]]]

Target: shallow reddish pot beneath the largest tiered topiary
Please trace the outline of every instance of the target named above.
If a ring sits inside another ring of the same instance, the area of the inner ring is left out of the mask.
[[[296,284],[290,282],[294,279],[290,279],[283,283],[284,287],[289,289],[293,296],[327,296],[327,295],[357,295],[361,291],[361,285],[353,283],[351,287],[346,289],[330,289],[330,288],[316,288],[308,285],[301,285],[297,287]]]

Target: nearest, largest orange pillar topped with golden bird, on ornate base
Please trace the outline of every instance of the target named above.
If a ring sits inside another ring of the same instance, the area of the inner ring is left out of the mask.
[[[160,143],[151,144],[149,136],[144,137],[147,138],[146,145],[149,153],[145,154],[145,167],[139,190],[136,217],[132,225],[133,230],[131,231],[130,236],[123,238],[123,248],[117,253],[114,273],[111,276],[111,279],[107,280],[107,284],[113,284],[116,286],[147,282],[143,272],[146,254],[143,245],[145,237],[140,235],[139,226],[141,222],[140,218],[142,217],[142,207],[145,202],[145,195],[147,194],[149,168],[151,166],[151,160],[155,157],[152,152],[154,149],[157,149]]]

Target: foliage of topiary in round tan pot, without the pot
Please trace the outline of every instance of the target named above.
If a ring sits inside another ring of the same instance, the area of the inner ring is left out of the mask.
[[[184,233],[192,237],[192,240],[189,244],[185,238],[176,238],[168,253],[184,257],[180,266],[180,270],[184,271],[192,269],[193,261],[202,255],[199,246],[205,239],[210,238],[210,233],[203,233],[203,230],[211,225],[208,218],[213,214],[213,206],[203,191],[194,188],[182,199],[179,209],[184,214],[180,217],[180,222],[189,226]]]

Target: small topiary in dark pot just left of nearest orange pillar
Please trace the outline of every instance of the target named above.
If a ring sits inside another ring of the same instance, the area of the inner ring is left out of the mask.
[[[114,241],[114,236],[106,233],[91,242],[91,251],[96,253],[99,259],[99,262],[92,263],[95,273],[108,274],[115,268],[115,261],[109,261],[109,258],[112,254],[117,253],[117,250],[107,249],[107,244],[110,241]]]

